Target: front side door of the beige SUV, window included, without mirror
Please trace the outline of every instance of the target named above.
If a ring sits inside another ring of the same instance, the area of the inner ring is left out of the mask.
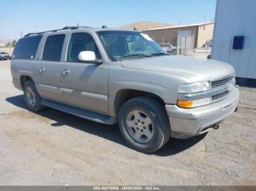
[[[99,50],[90,34],[74,33],[67,49],[67,62],[62,66],[61,90],[67,104],[108,113],[108,65],[78,62],[81,51]]]

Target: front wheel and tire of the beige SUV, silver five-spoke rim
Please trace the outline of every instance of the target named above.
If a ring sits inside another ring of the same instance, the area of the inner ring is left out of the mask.
[[[124,103],[118,124],[125,141],[139,152],[155,152],[170,139],[165,106],[153,98],[132,98]]]

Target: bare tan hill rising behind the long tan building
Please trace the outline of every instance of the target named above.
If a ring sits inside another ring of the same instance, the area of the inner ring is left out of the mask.
[[[158,23],[153,21],[140,21],[136,23],[129,23],[125,26],[119,26],[118,28],[130,29],[130,30],[133,30],[134,28],[136,28],[139,31],[145,31],[151,28],[159,28],[159,27],[167,27],[167,26],[173,26],[173,25],[167,24],[167,23]]]

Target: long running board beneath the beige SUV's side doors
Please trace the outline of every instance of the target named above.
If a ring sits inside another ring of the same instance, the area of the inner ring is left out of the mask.
[[[99,122],[107,125],[113,125],[117,123],[116,117],[110,117],[106,114],[99,114],[97,112],[91,112],[87,109],[80,109],[75,106],[69,106],[66,104],[61,104],[56,101],[50,101],[48,99],[42,99],[41,104],[48,106],[53,109],[57,109],[61,112],[66,112],[68,114],[74,114],[78,117],[82,117],[86,120],[91,120],[94,122]]]

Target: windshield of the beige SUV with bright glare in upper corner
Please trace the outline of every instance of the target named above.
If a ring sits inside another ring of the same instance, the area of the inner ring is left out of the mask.
[[[147,34],[138,31],[99,31],[98,34],[113,61],[168,55]]]

